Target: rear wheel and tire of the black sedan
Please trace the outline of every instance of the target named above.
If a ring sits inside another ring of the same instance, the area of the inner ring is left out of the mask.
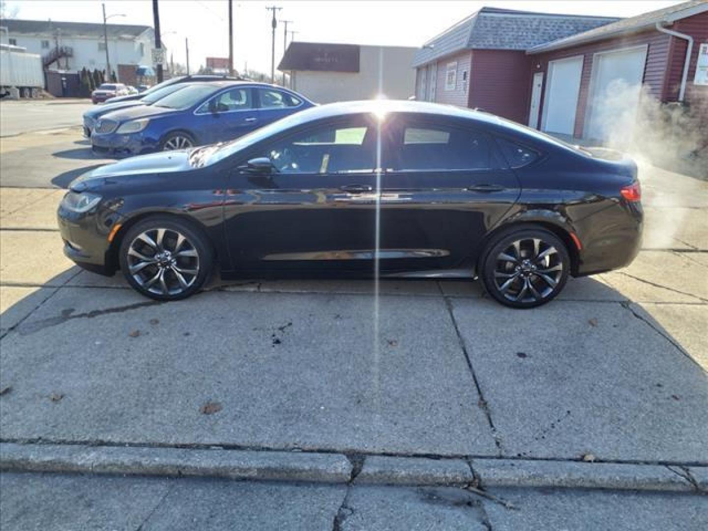
[[[540,227],[519,227],[489,241],[479,277],[504,306],[534,308],[563,290],[570,267],[568,249],[558,236]]]

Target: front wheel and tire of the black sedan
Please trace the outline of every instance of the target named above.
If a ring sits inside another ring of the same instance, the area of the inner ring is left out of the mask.
[[[145,297],[160,301],[190,297],[209,280],[214,251],[207,236],[174,217],[149,217],[123,237],[120,269],[128,284]]]

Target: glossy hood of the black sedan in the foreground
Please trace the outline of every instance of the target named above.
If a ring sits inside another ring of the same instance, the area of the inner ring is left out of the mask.
[[[192,148],[180,149],[178,151],[133,156],[130,159],[106,164],[74,179],[69,185],[69,189],[74,192],[82,192],[101,185],[112,177],[156,176],[164,173],[193,170],[195,168],[189,164],[189,154],[191,152]]]

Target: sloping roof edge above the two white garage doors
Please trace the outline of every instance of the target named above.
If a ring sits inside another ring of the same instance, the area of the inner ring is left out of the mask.
[[[547,42],[542,45],[537,45],[528,50],[528,53],[535,54],[540,52],[548,52],[550,50],[559,50],[569,46],[579,45],[585,42],[594,42],[606,38],[616,37],[618,35],[626,35],[628,33],[636,33],[637,31],[653,28],[656,23],[673,23],[680,18],[696,15],[708,11],[708,2],[706,0],[694,0],[676,4],[657,11],[649,11],[642,13],[639,16],[632,18],[624,18],[621,21],[603,25],[600,28],[571,35],[564,39]]]

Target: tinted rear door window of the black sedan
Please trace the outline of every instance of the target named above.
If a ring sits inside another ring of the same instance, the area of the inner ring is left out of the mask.
[[[498,168],[489,138],[445,125],[405,125],[392,164],[396,171]]]

